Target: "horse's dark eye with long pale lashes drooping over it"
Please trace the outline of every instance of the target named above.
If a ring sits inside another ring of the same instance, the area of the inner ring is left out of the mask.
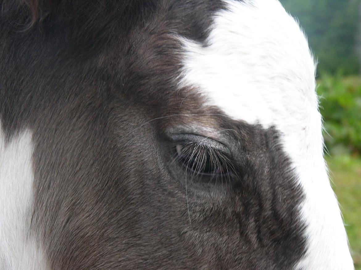
[[[188,170],[197,175],[228,174],[230,165],[227,158],[217,149],[205,145],[188,143],[177,144],[177,158]]]

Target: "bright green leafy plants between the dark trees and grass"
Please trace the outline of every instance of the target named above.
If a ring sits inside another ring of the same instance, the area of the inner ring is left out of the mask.
[[[361,154],[361,78],[323,75],[317,88],[325,143],[333,154]]]

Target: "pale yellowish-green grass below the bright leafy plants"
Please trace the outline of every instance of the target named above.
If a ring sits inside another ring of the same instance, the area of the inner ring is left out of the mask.
[[[356,270],[361,270],[361,158],[327,157],[330,177],[346,224]]]

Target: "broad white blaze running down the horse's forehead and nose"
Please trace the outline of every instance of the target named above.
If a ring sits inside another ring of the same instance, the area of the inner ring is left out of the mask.
[[[323,159],[315,67],[299,25],[277,0],[225,0],[208,46],[184,44],[181,86],[199,87],[229,116],[282,132],[306,194],[308,249],[296,268],[353,269],[338,202]]]

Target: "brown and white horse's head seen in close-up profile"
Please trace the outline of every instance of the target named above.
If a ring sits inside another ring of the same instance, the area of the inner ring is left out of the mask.
[[[353,269],[277,0],[0,5],[0,270]]]

